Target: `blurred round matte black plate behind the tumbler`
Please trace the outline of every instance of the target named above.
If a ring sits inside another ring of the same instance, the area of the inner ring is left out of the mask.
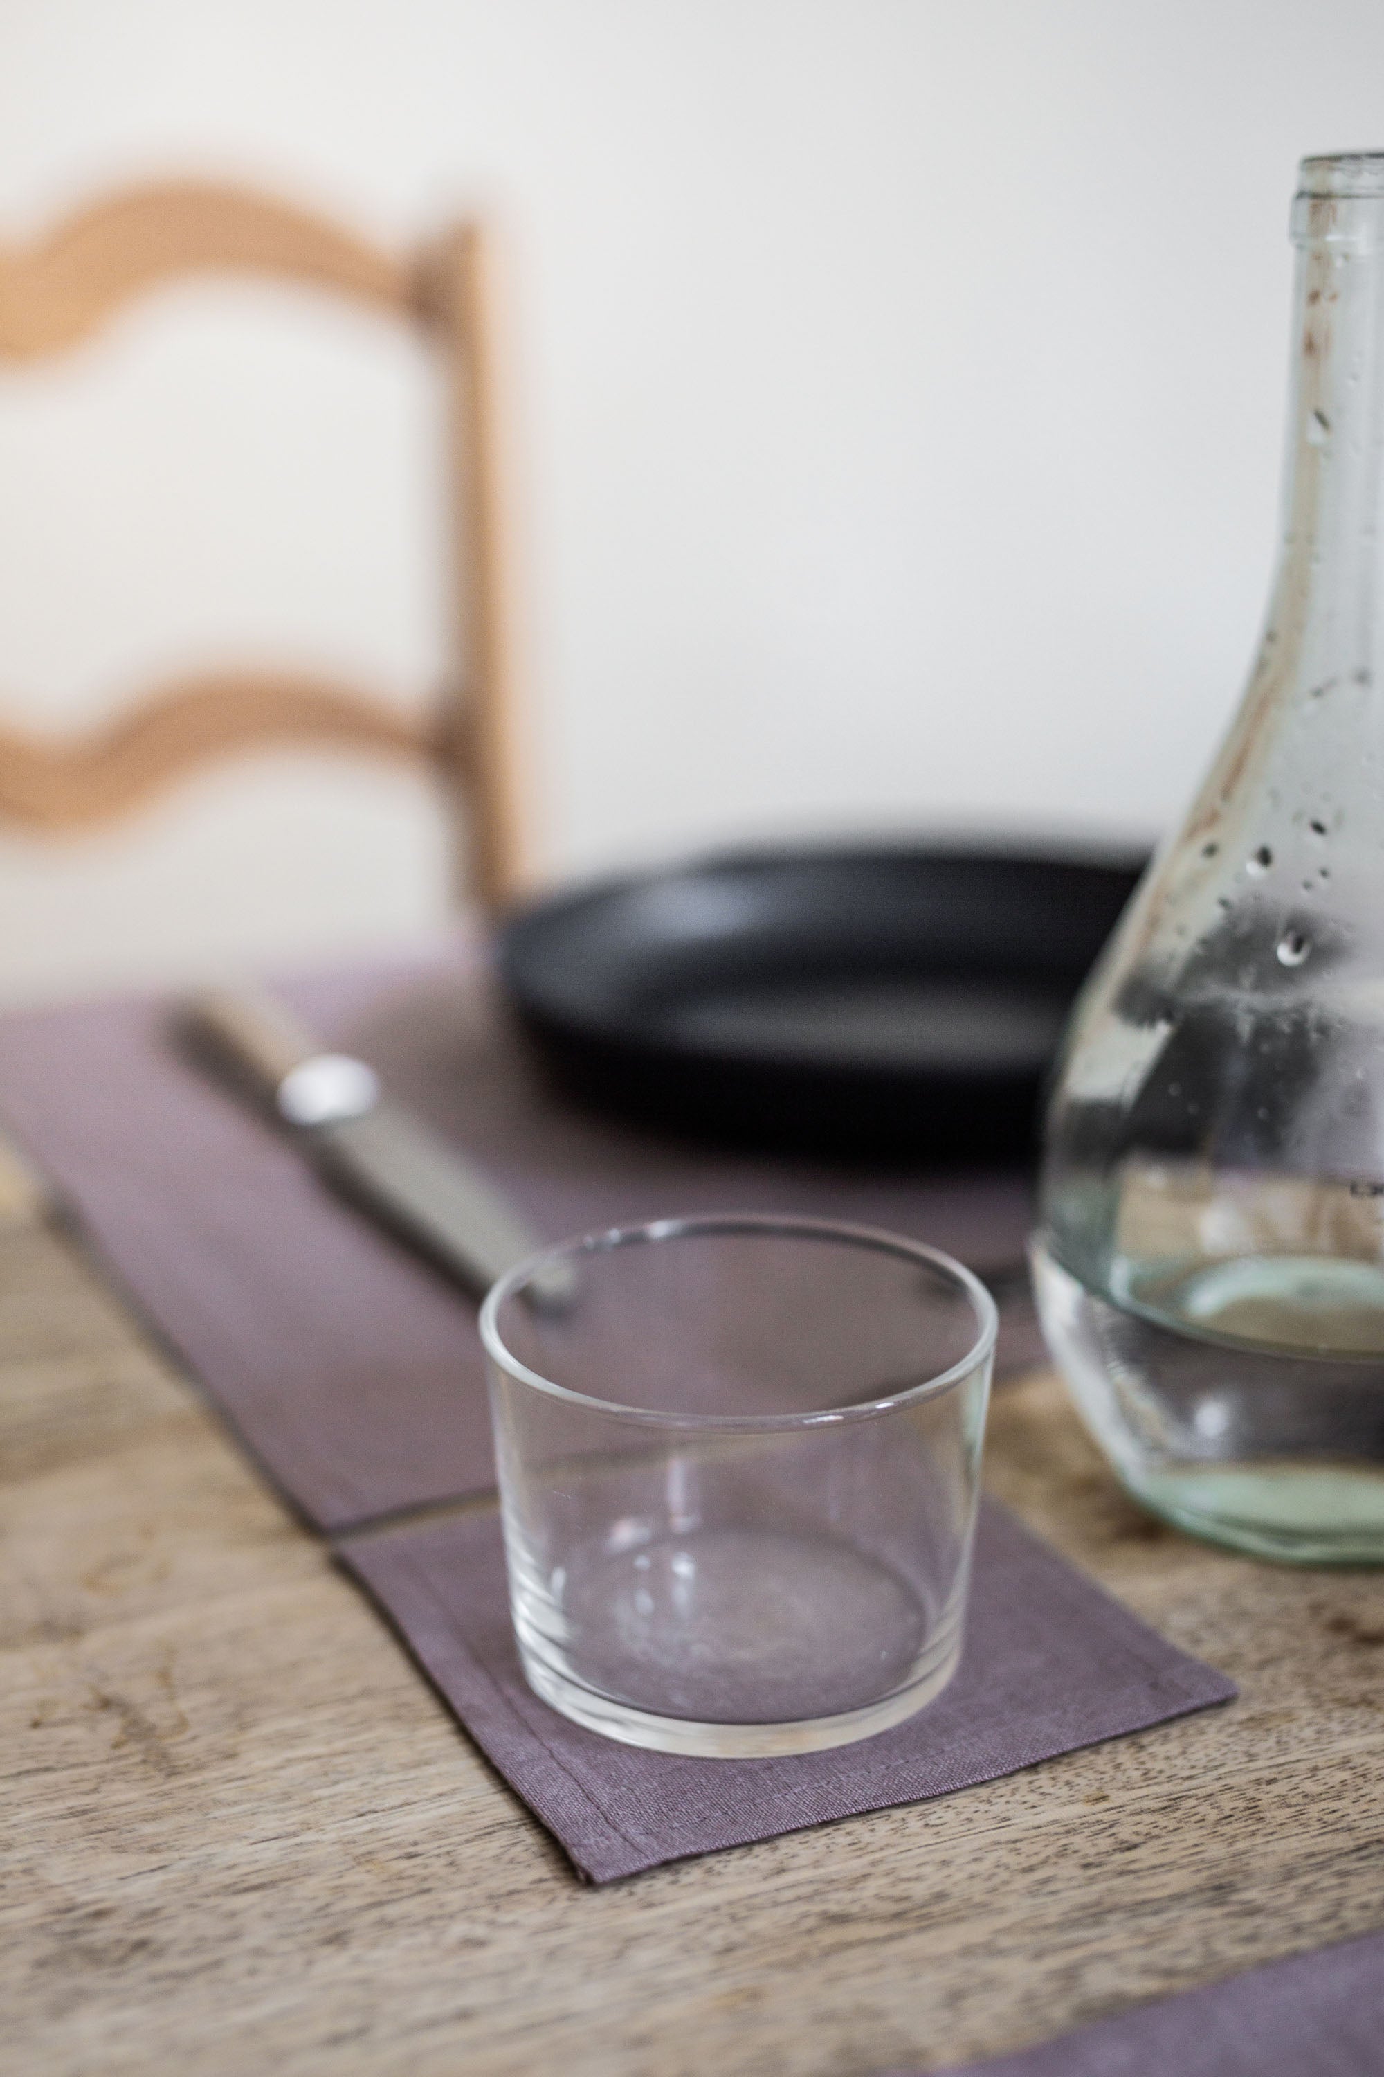
[[[500,974],[579,1101],[739,1147],[1013,1159],[1145,860],[755,852],[554,895]]]

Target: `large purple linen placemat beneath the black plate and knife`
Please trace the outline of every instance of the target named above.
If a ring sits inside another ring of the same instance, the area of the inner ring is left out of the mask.
[[[324,1038],[371,1059],[544,1238],[668,1213],[797,1211],[930,1240],[981,1275],[1023,1255],[1029,1194],[1015,1174],[851,1176],[577,1113],[539,1084],[473,953],[284,995]],[[315,1527],[492,1485],[471,1300],[183,1059],[168,1005],[2,1020],[0,1117]],[[1042,1360],[1042,1342],[1023,1282],[1008,1292],[1000,1367],[1013,1369]]]

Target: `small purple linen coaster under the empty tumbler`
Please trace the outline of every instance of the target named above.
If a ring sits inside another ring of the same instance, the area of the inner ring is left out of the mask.
[[[907,1724],[788,1759],[645,1753],[539,1701],[515,1653],[492,1510],[363,1531],[336,1556],[591,1882],[969,1788],[1235,1695],[992,1502],[952,1684]]]

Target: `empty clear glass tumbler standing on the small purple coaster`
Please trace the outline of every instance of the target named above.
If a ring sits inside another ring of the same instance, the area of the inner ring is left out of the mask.
[[[593,1234],[481,1311],[529,1684],[666,1753],[845,1745],[961,1651],[996,1315],[815,1219]]]

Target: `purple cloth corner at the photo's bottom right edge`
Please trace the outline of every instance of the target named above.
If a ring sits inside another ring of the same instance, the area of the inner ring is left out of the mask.
[[[1380,2077],[1382,2069],[1384,1934],[1365,1934],[938,2077]]]

